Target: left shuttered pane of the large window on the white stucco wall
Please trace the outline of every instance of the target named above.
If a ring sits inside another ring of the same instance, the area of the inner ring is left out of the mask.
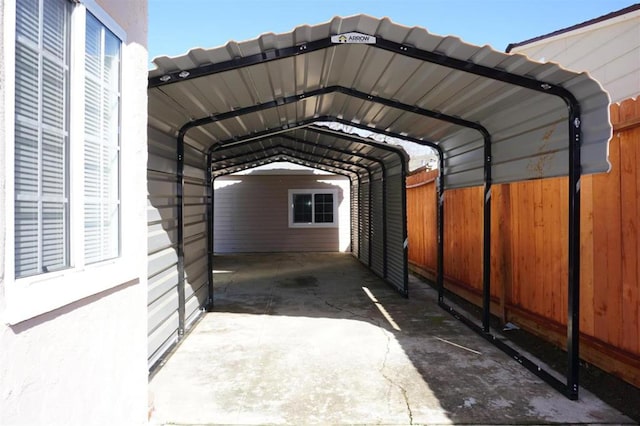
[[[69,265],[67,0],[16,2],[15,273]]]

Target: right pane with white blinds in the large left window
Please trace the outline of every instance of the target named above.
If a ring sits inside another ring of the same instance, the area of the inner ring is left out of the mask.
[[[85,263],[119,254],[120,40],[87,13],[85,45]]]

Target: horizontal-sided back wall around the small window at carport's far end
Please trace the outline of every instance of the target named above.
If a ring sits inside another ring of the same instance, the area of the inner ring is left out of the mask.
[[[233,175],[215,180],[217,253],[350,251],[349,180],[337,175]],[[290,189],[337,189],[337,228],[290,228]]]

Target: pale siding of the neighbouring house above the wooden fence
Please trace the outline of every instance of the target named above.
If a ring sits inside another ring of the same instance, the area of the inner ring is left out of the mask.
[[[640,94],[640,10],[515,47],[536,61],[553,61],[588,71],[609,92],[611,102]]]

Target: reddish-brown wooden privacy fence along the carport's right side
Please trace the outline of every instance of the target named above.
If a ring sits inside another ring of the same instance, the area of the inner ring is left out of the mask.
[[[640,99],[611,106],[611,172],[581,179],[581,358],[640,387]],[[436,269],[437,172],[407,178],[409,262]],[[445,192],[446,288],[480,305],[482,188]],[[566,178],[492,187],[492,313],[566,344]]]

